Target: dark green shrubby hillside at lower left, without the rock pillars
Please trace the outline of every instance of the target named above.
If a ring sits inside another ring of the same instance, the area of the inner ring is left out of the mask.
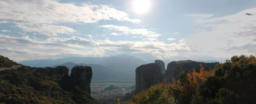
[[[22,66],[0,71],[0,102],[4,104],[100,104],[69,76],[36,73],[37,68]]]

